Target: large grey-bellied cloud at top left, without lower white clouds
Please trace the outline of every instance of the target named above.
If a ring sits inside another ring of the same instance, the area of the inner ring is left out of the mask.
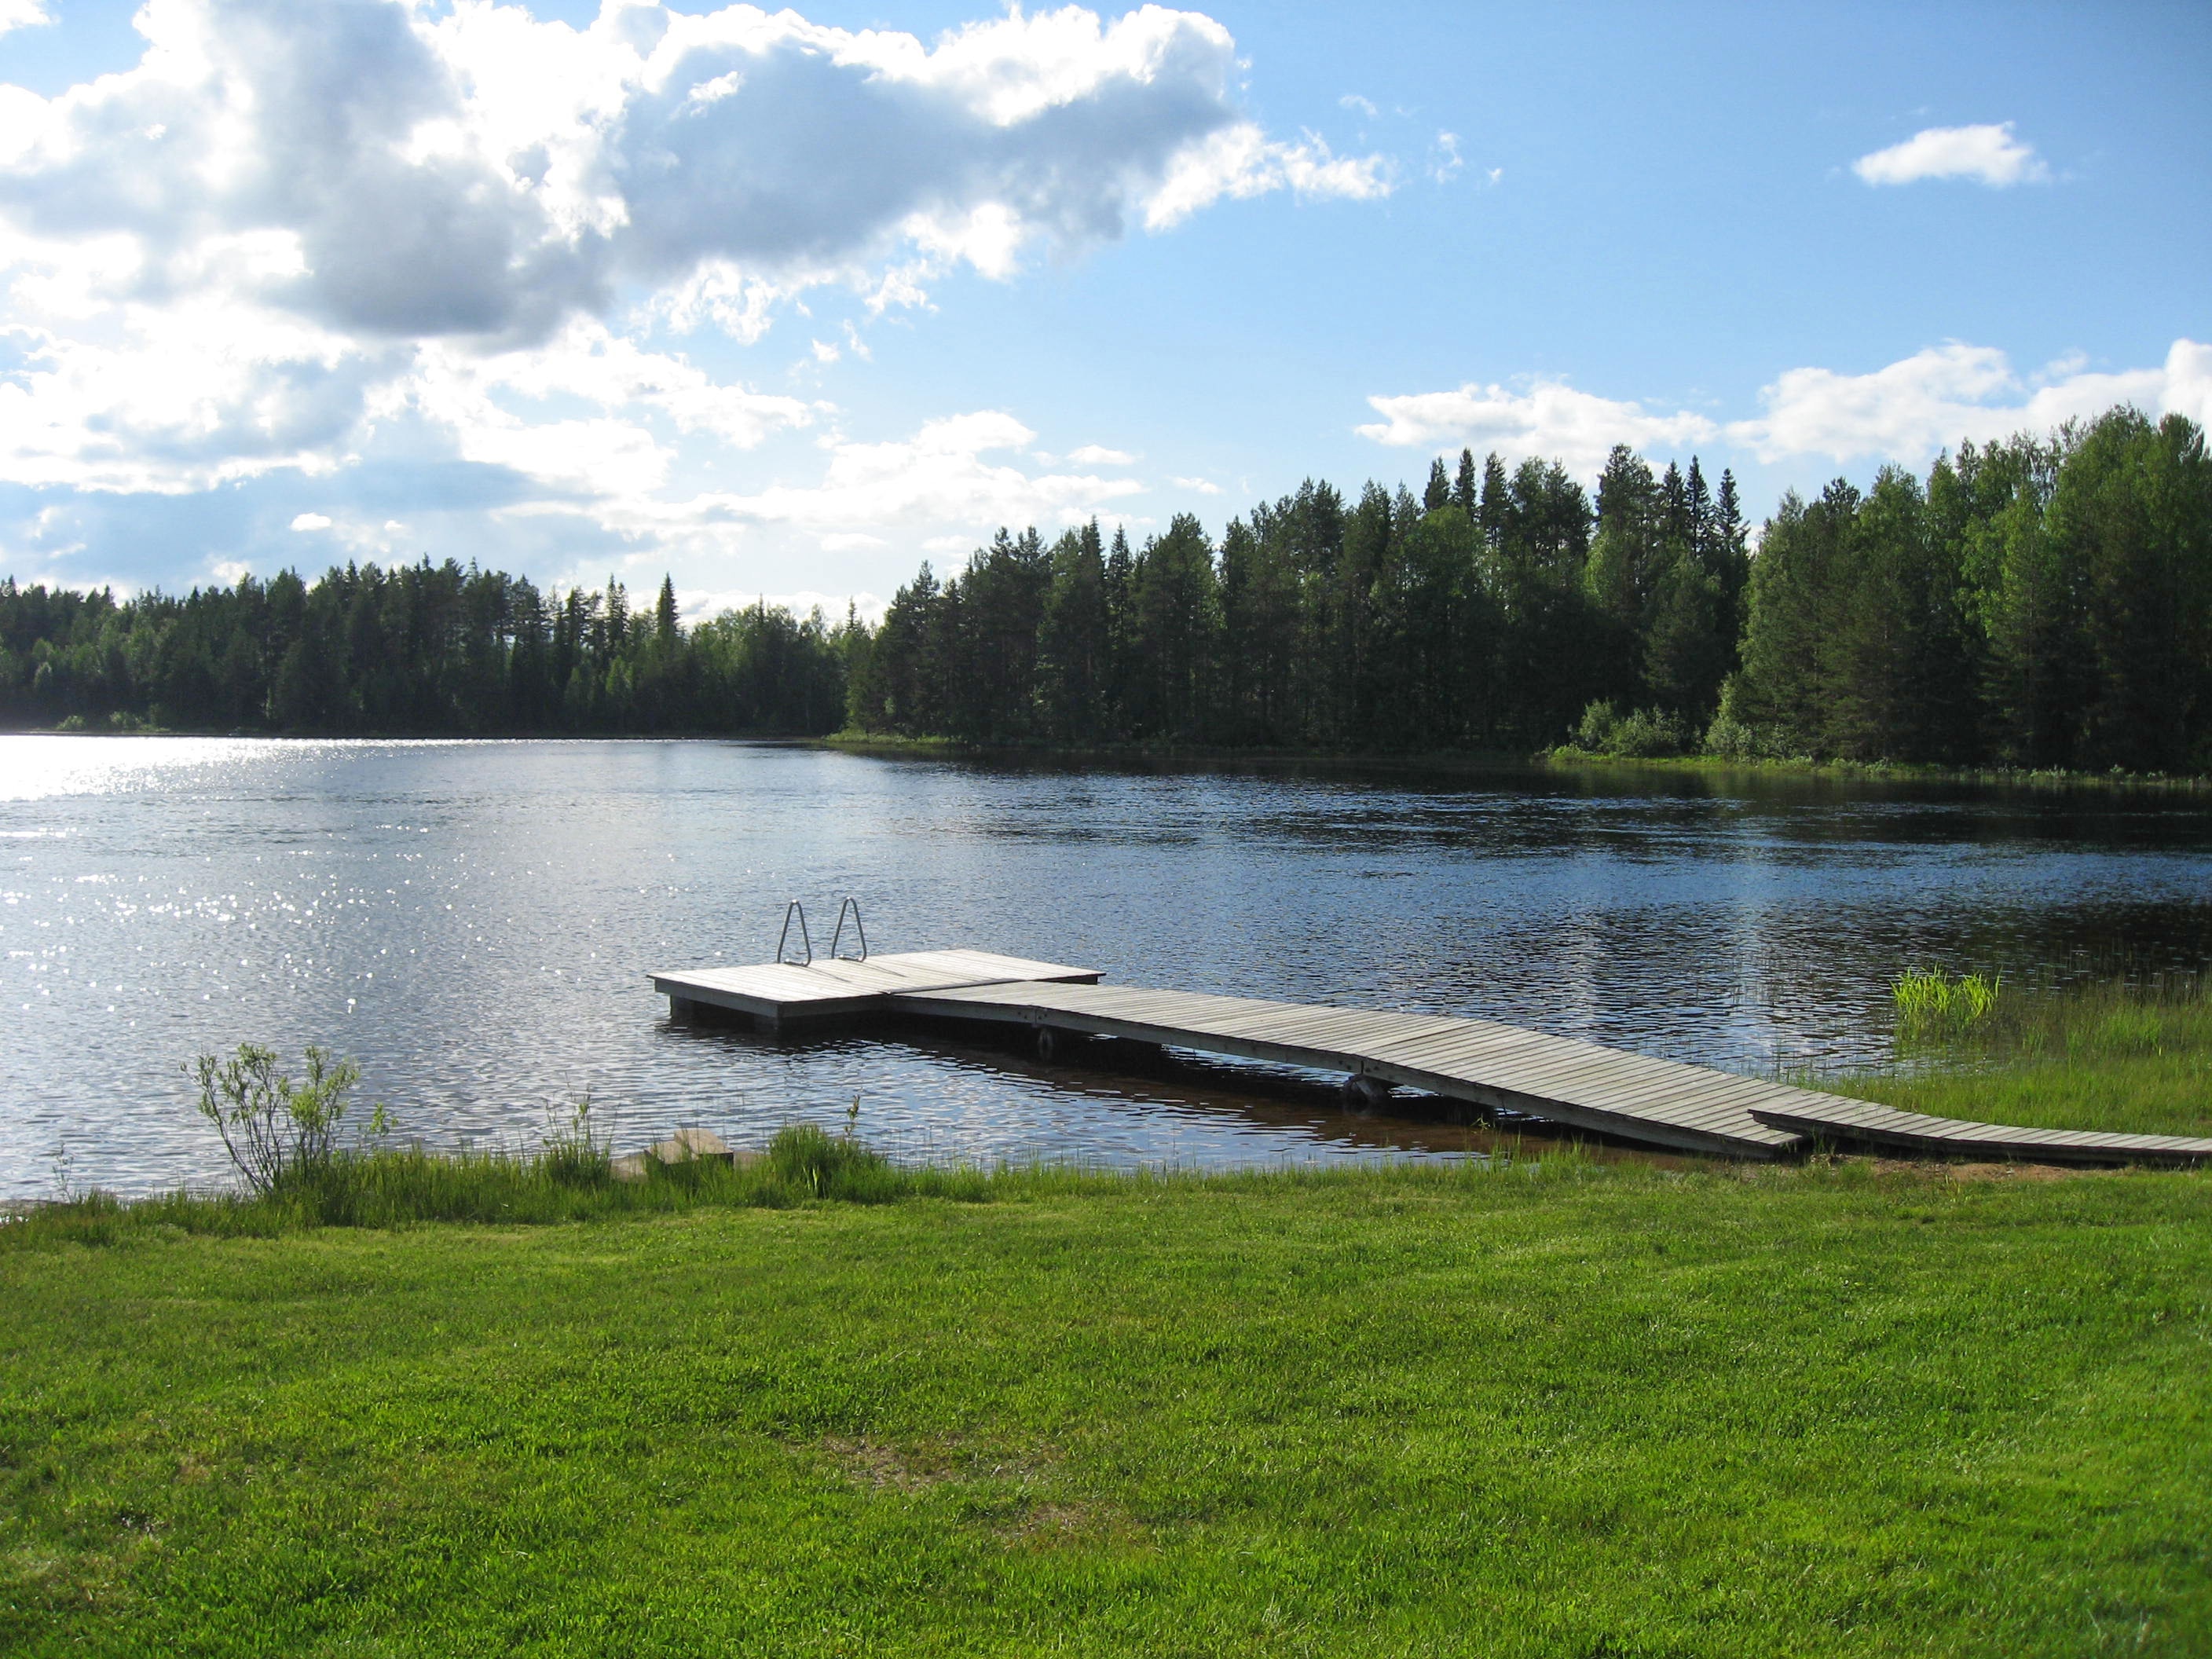
[[[4,2],[4,0],[0,0]],[[131,243],[111,296],[206,285],[349,334],[533,341],[617,288],[1015,270],[1223,195],[1376,195],[1378,157],[1276,144],[1199,13],[1068,7],[936,46],[752,7],[148,0],[142,62],[13,91],[0,215],[33,243]],[[723,296],[728,299],[728,296]],[[739,314],[752,301],[739,301]]]

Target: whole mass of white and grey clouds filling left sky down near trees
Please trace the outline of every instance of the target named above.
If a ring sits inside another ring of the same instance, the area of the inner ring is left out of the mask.
[[[0,0],[0,24],[35,15]],[[458,467],[502,511],[684,526],[684,480],[832,418],[708,372],[719,343],[695,361],[686,334],[759,341],[823,285],[920,312],[960,268],[1013,279],[1221,199],[1391,184],[1383,157],[1248,119],[1228,31],[1161,7],[1015,9],[927,44],[650,0],[586,27],[495,0],[146,0],[135,27],[117,73],[0,86],[0,484]],[[814,361],[867,358],[832,327]],[[865,449],[757,511],[902,489],[967,522],[1104,487],[958,445],[929,484]]]

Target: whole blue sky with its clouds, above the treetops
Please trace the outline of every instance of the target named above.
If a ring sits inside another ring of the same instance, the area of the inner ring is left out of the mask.
[[[1462,442],[1694,451],[1763,513],[2212,416],[2205,7],[0,22],[20,580],[880,599]]]

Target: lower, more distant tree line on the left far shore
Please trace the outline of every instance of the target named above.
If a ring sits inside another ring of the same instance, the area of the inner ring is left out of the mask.
[[[757,604],[686,628],[670,582],[546,595],[502,571],[347,564],[186,597],[0,582],[0,723],[246,732],[821,734],[847,619]]]

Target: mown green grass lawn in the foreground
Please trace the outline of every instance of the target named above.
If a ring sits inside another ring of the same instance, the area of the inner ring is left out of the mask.
[[[27,1225],[0,1650],[2212,1650],[2212,1177],[969,1192]]]

